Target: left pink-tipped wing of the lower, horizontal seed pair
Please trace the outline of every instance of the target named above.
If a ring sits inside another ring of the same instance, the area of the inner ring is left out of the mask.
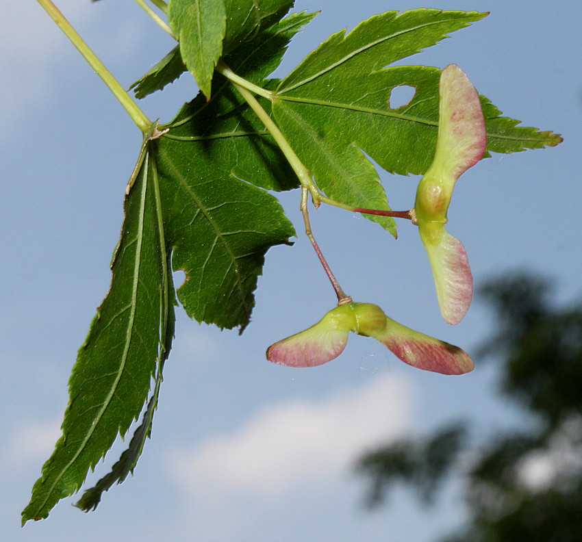
[[[316,367],[336,359],[347,341],[348,331],[329,328],[324,319],[270,346],[267,359],[287,367]]]

